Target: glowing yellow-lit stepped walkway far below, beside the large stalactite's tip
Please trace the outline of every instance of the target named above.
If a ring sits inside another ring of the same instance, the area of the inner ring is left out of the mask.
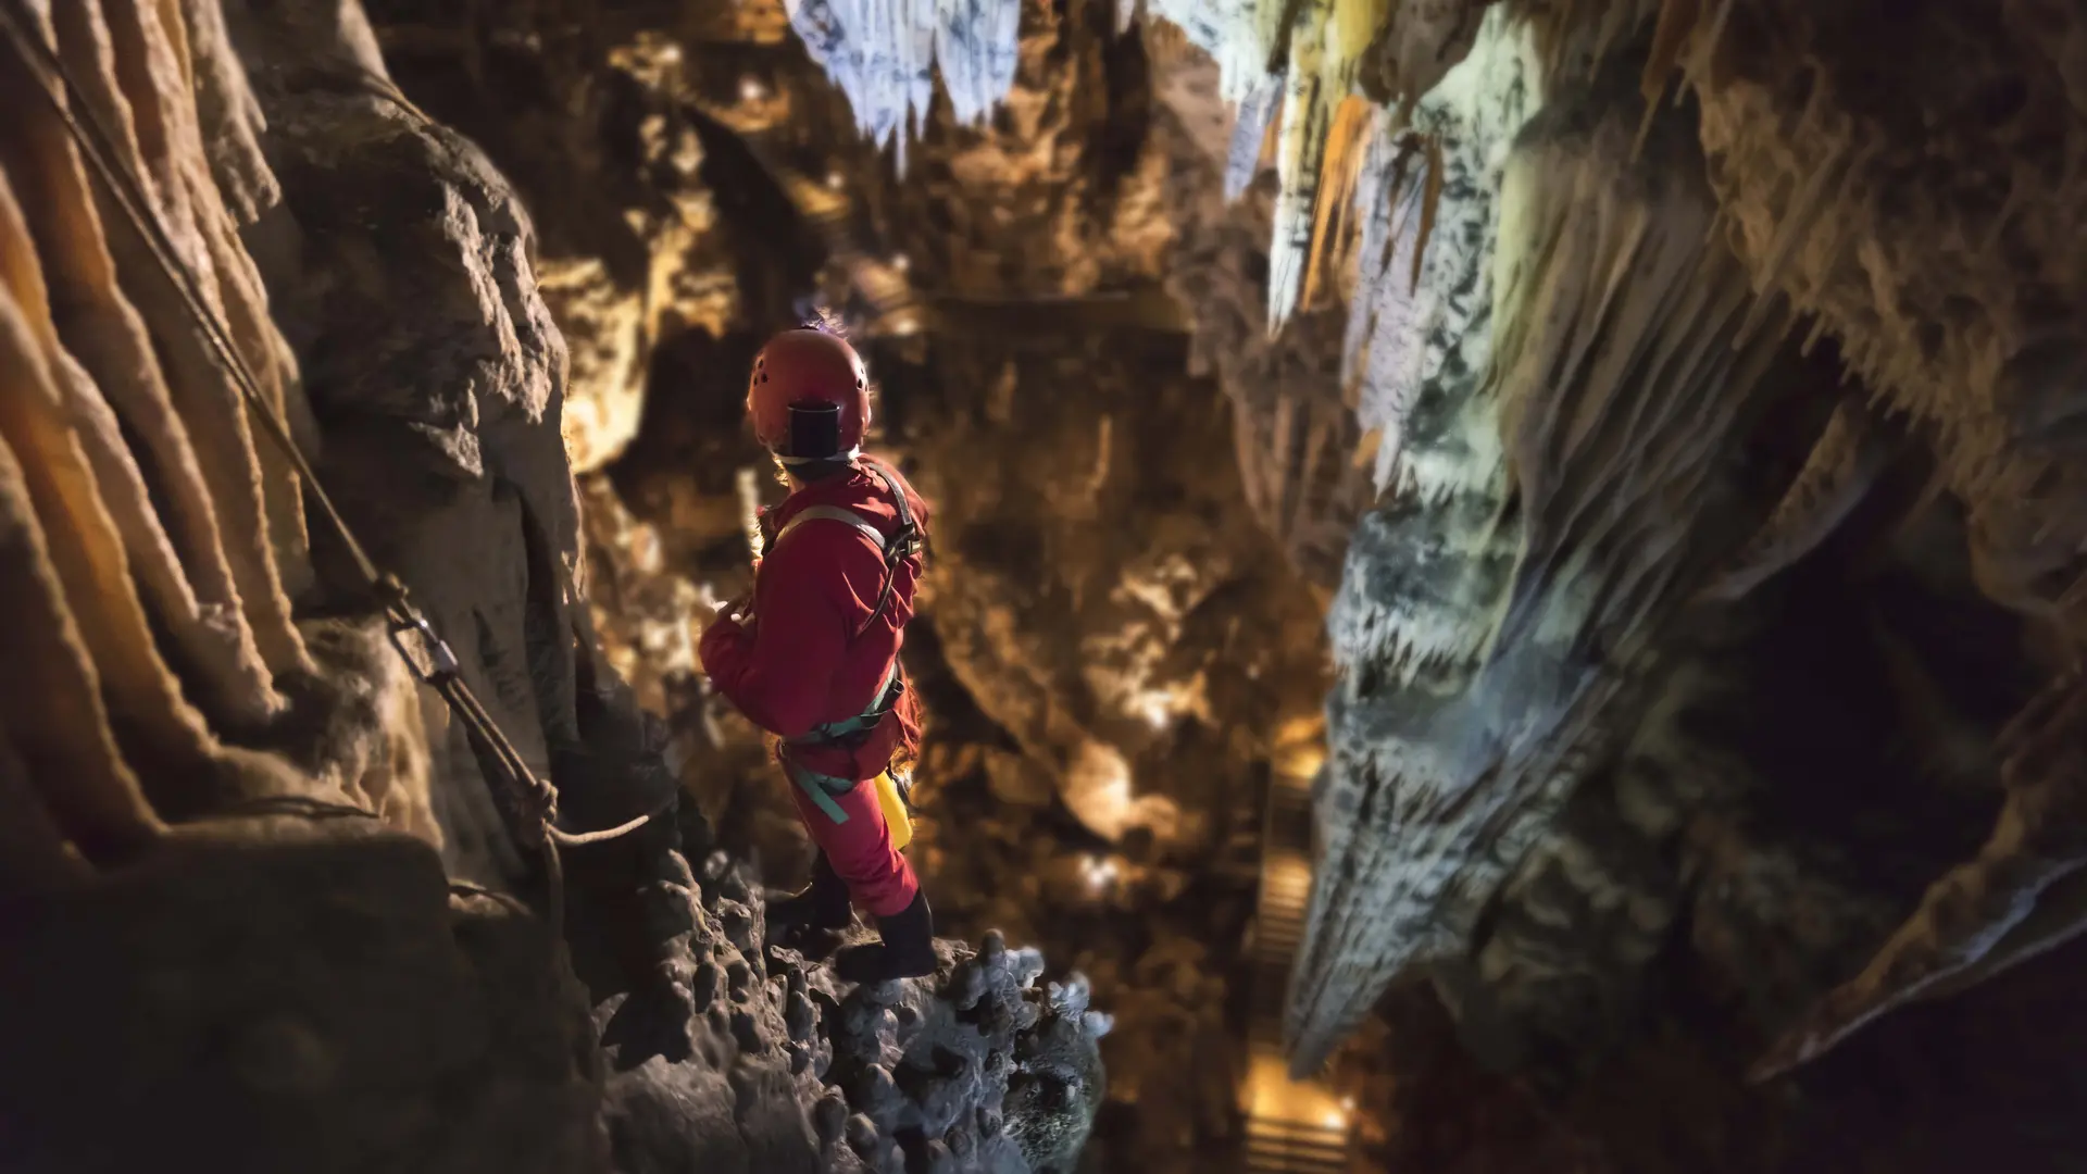
[[[1277,773],[1261,836],[1261,894],[1252,936],[1248,1019],[1246,1170],[1250,1174],[1336,1174],[1348,1168],[1348,1109],[1319,1080],[1290,1080],[1284,1059],[1284,999],[1304,938],[1311,894],[1311,777]]]

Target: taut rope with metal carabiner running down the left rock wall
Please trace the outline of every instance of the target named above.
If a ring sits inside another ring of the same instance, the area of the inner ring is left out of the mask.
[[[484,762],[490,760],[501,781],[513,792],[518,819],[509,821],[509,831],[522,846],[538,848],[543,854],[549,902],[545,919],[551,925],[553,948],[561,950],[566,884],[563,863],[559,861],[557,848],[601,844],[628,836],[666,808],[662,806],[659,811],[651,811],[630,819],[628,823],[605,827],[601,831],[566,831],[557,825],[557,788],[549,779],[538,779],[536,773],[530,771],[522,752],[515,750],[513,742],[501,731],[493,714],[486,712],[484,704],[478,702],[478,696],[472,694],[472,687],[463,681],[455,652],[449,650],[449,643],[442,641],[442,637],[407,595],[405,583],[378,568],[378,564],[369,558],[367,547],[363,547],[363,543],[355,537],[355,531],[349,526],[346,518],[342,518],[334,499],[326,493],[326,487],[313,472],[311,462],[305,460],[303,449],[298,449],[296,439],[275,416],[269,401],[261,395],[261,384],[255,380],[246,361],[232,345],[232,336],[225,326],[217,322],[217,315],[209,309],[209,301],[205,301],[196,284],[196,276],[188,269],[188,263],[182,261],[173,242],[167,238],[167,230],[152,211],[142,184],[121,163],[117,163],[121,157],[113,148],[109,130],[100,125],[94,115],[94,107],[83,98],[83,92],[65,67],[65,61],[58,58],[56,50],[46,44],[40,33],[31,31],[35,29],[35,21],[21,17],[17,13],[17,4],[19,0],[0,2],[0,25],[6,27],[6,36],[15,44],[15,52],[21,56],[23,65],[35,73],[38,90],[58,115],[58,121],[73,138],[73,144],[79,148],[94,175],[109,190],[109,196],[123,211],[123,219],[127,219],[131,230],[136,230],[144,240],[161,274],[169,284],[173,284],[175,295],[179,295],[184,309],[194,320],[192,324],[198,334],[202,334],[202,341],[209,343],[213,357],[240,389],[240,397],[246,401],[253,416],[261,420],[261,430],[282,451],[284,460],[290,462],[298,478],[305,483],[305,489],[319,503],[319,512],[340,537],[340,545],[355,564],[355,572],[361,579],[363,589],[384,606],[392,648],[407,662],[407,668],[411,668],[422,683],[430,685],[436,694],[440,694],[442,702],[449,704],[449,710],[470,735],[472,746],[480,756],[480,765],[484,767]],[[75,109],[79,115],[75,115]],[[376,819],[376,813],[365,811],[363,815]]]

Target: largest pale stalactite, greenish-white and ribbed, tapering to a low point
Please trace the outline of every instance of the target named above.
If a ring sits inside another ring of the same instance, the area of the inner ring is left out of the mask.
[[[1290,1017],[1300,1070],[1396,976],[1469,948],[1488,894],[1601,760],[1649,639],[1722,549],[1709,476],[1772,384],[1778,334],[1743,330],[1747,274],[1705,246],[1707,192],[1674,180],[1690,173],[1686,123],[1657,121],[1632,165],[1636,111],[1613,77],[1536,115],[1501,182],[1490,361],[1457,409],[1507,439],[1517,524],[1494,529],[1496,483],[1405,506],[1434,543],[1411,533],[1415,549],[1396,551],[1359,533],[1350,554],[1329,792],[1352,798],[1327,802],[1359,827],[1313,892]],[[1478,579],[1501,539],[1511,572]],[[1469,579],[1444,591],[1450,574]],[[1377,631],[1346,627],[1361,593],[1380,597]],[[1473,643],[1478,662],[1457,664]]]

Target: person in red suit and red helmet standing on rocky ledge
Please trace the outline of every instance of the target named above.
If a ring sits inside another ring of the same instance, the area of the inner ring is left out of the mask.
[[[849,982],[935,971],[935,928],[912,865],[893,846],[879,775],[918,750],[899,673],[914,612],[927,503],[891,466],[860,455],[868,374],[837,334],[785,330],[753,359],[753,430],[789,474],[791,495],[762,520],[751,604],[726,608],[699,654],[716,689],[776,735],[806,831],[812,886],[768,907],[772,934],[839,930],[849,898],[881,942],[849,946]]]

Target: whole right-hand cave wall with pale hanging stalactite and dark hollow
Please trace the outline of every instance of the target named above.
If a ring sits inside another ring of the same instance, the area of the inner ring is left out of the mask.
[[[1720,1168],[1914,1161],[1866,1130],[1943,1095],[1868,1065],[1985,1024],[2004,994],[1978,984],[2018,961],[2058,967],[2024,984],[2070,973],[2043,950],[2077,923],[2056,746],[2079,503],[2031,472],[2060,412],[1991,407],[2064,399],[2079,305],[2047,261],[2068,213],[2029,211],[2070,207],[2079,130],[2070,23],[2033,8],[1154,13],[1210,50],[1238,127],[1275,127],[1294,198],[1271,311],[1309,303],[1315,265],[1357,282],[1346,372],[1382,499],[1329,620],[1292,1030],[1309,1070],[1373,1011],[1455,1024],[1463,1057],[1394,1030],[1346,1061],[1398,1072],[1375,1086],[1388,1153],[1476,1057],[1513,1074],[1488,1105],[1534,1084],[1555,1118],[1513,1145],[1442,1130],[1463,1141],[1430,1161],[1682,1164],[1603,1097],[1786,1141]],[[1891,65],[1853,65],[1887,25]],[[1361,157],[1354,94],[1384,102]],[[1357,201],[1357,253],[1327,192]],[[2026,234],[2045,246],[2010,251]],[[2010,476],[2037,489],[1993,497]],[[2039,510],[2037,539],[2001,537]],[[1945,1003],[1878,1022],[1924,999]],[[1747,1088],[1855,1030],[1874,1051]],[[2029,1074],[2039,1042],[1987,1063]],[[1791,1107],[1845,1105],[1847,1080],[1889,1088],[1851,1136]],[[1918,1161],[1987,1128],[2049,1161],[2029,1122],[2060,1101],[1935,1120]]]

